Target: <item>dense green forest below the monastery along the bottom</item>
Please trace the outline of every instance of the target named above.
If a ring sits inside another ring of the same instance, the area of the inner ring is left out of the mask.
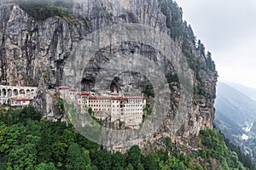
[[[166,147],[150,154],[137,145],[110,154],[71,124],[44,120],[32,105],[2,109],[0,120],[0,169],[246,169],[216,130],[201,131],[195,153],[177,150],[166,138]],[[246,166],[255,169],[250,161]]]

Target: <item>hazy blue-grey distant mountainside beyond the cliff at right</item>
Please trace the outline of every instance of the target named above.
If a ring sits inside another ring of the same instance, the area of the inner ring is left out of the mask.
[[[254,95],[255,93],[255,95]],[[256,89],[218,82],[214,124],[256,162]]]

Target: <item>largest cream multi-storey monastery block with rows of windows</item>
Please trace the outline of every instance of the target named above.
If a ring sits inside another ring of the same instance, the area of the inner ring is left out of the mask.
[[[143,109],[145,105],[146,98],[140,96],[90,96],[86,107],[91,107],[94,111],[94,116],[99,120],[104,118],[104,116],[108,116],[111,122],[119,120],[120,122],[125,122],[126,125],[136,126],[143,122]]]

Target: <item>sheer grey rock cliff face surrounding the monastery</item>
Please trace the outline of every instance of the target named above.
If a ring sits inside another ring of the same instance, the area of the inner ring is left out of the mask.
[[[212,128],[216,72],[209,69],[196,70],[201,77],[201,80],[198,80],[195,70],[185,70],[189,64],[183,61],[182,40],[176,42],[168,40],[170,43],[164,48],[170,49],[169,54],[172,57],[169,59],[165,53],[161,52],[161,45],[157,48],[157,44],[164,42],[165,38],[155,37],[154,42],[148,45],[143,42],[141,35],[134,33],[140,32],[143,27],[137,28],[132,36],[131,26],[115,27],[123,26],[122,24],[125,23],[143,24],[154,29],[154,31],[149,29],[148,32],[144,32],[144,37],[147,37],[147,33],[153,34],[152,32],[170,35],[172,30],[166,26],[166,20],[170,16],[162,13],[161,5],[156,0],[98,0],[96,2],[77,0],[73,5],[72,16],[55,16],[38,21],[26,14],[15,3],[2,4],[0,5],[0,37],[2,37],[0,83],[38,86],[42,92],[38,99],[41,103],[39,102],[38,105],[44,115],[54,116],[58,113],[55,113],[56,103],[49,102],[49,98],[55,99],[55,96],[50,97],[50,93],[47,93],[49,83],[91,90],[96,88],[97,77],[101,76],[101,71],[109,65],[112,67],[114,65],[117,71],[129,65],[131,59],[134,59],[132,62],[137,66],[145,66],[144,61],[158,65],[169,84],[166,88],[170,90],[158,88],[154,89],[154,94],[159,90],[161,94],[171,95],[171,110],[166,114],[165,121],[155,133],[149,136],[141,135],[139,138],[134,136],[127,144],[116,145],[114,141],[111,142],[111,139],[108,139],[108,149],[125,150],[132,144],[139,144],[141,147],[150,144],[160,145],[162,144],[160,139],[163,137],[171,137],[173,141],[188,142],[191,145],[189,140],[194,139],[202,128]],[[106,26],[107,29],[105,29]],[[102,37],[106,32],[111,32],[109,28],[115,28],[113,35]],[[130,32],[129,35],[128,32]],[[148,37],[154,37],[154,35]],[[110,43],[104,46],[104,42]],[[91,50],[91,44],[97,47]],[[196,51],[193,43],[191,44],[191,53],[201,67],[206,67],[206,58]],[[116,62],[111,63],[110,60],[114,59],[117,59]],[[78,71],[80,67],[84,68]],[[156,82],[152,82],[148,74],[150,75],[150,71],[155,69],[148,65],[148,71],[149,73],[133,69],[119,72],[107,88],[128,93],[129,89],[145,90],[148,86],[154,87]],[[68,81],[67,77],[73,80]],[[192,92],[188,94],[192,99],[191,104],[182,103],[187,94],[183,96],[182,80],[177,80],[177,77],[185,77],[195,87],[203,86],[207,89],[207,94]],[[163,102],[153,98],[152,95],[150,101],[152,105]],[[51,105],[51,103],[54,104]]]

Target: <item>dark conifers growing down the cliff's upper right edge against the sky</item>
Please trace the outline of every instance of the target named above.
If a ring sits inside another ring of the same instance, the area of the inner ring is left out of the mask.
[[[217,76],[212,54],[210,52],[206,53],[206,48],[200,39],[196,40],[191,26],[188,26],[187,21],[183,20],[182,8],[178,7],[176,2],[172,0],[159,2],[162,13],[166,15],[166,26],[170,29],[170,37],[181,43],[182,51],[188,60],[189,67],[195,71],[195,79],[198,82],[195,84],[195,94],[214,99],[215,94],[212,94],[206,88],[206,81],[203,78],[204,72],[207,74],[212,72]]]

